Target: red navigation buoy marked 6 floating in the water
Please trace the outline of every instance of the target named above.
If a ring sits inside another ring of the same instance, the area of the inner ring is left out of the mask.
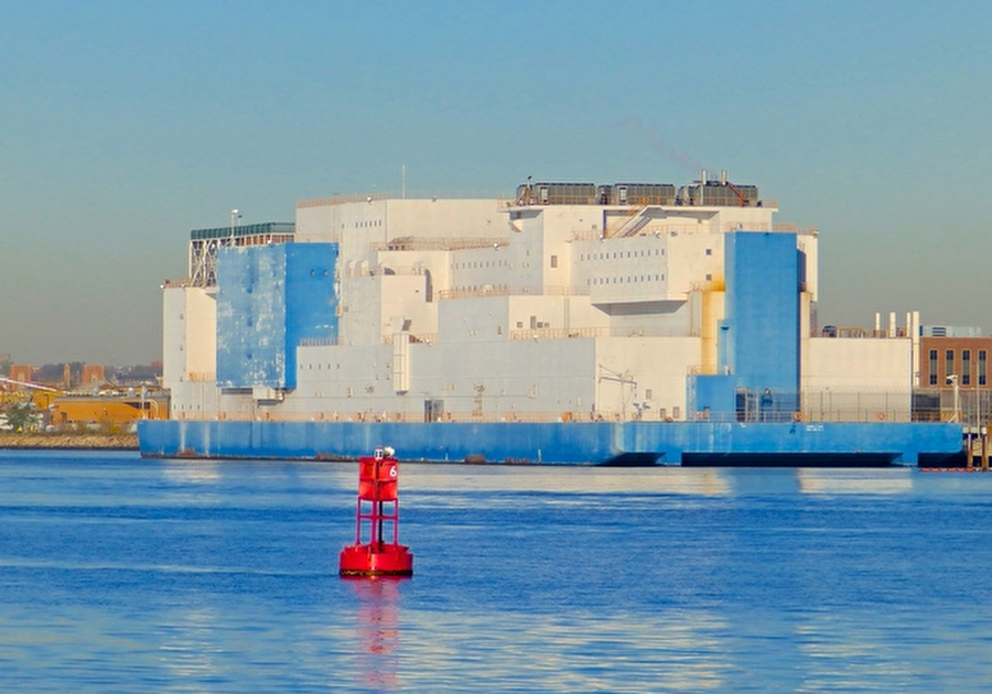
[[[392,448],[358,460],[355,544],[341,551],[342,576],[412,576],[413,555],[399,543],[399,462]],[[385,534],[391,525],[392,541]]]

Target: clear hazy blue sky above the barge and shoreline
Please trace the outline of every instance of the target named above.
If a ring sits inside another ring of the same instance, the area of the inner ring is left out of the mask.
[[[681,185],[820,235],[820,325],[992,334],[992,3],[0,0],[0,354],[161,359],[192,229]]]

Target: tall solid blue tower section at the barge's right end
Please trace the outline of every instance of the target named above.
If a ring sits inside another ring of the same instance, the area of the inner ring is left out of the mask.
[[[737,231],[724,245],[719,375],[690,378],[689,410],[721,421],[788,421],[799,409],[805,256],[795,234]]]

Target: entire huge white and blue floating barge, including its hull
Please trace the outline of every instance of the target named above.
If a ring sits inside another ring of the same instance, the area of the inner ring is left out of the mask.
[[[915,465],[919,316],[816,325],[819,234],[725,173],[376,193],[194,231],[163,285],[170,420],[145,456]]]

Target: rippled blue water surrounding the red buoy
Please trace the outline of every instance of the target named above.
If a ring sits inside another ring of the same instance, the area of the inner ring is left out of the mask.
[[[0,452],[4,692],[980,692],[992,475]]]

